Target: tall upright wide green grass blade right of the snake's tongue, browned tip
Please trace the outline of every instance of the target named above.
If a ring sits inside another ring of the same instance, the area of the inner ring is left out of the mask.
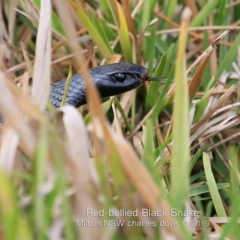
[[[186,77],[187,21],[183,20],[178,42],[173,106],[173,148],[171,173],[171,199],[173,206],[182,209],[189,192],[189,94]]]

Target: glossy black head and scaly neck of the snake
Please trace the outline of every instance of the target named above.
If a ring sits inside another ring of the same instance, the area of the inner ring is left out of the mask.
[[[148,76],[142,66],[123,62],[102,65],[89,70],[89,74],[101,97],[118,95],[141,86]],[[66,79],[51,85],[50,99],[59,108],[64,94]],[[86,103],[86,88],[81,74],[72,76],[65,104],[79,107]]]

